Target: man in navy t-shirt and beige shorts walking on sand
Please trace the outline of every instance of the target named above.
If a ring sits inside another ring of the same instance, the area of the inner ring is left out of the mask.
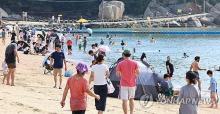
[[[51,54],[51,62],[50,62],[50,65],[54,69],[53,70],[54,82],[55,82],[54,88],[57,87],[57,76],[60,76],[59,89],[62,89],[61,88],[61,85],[62,85],[62,69],[63,69],[63,63],[64,63],[65,71],[67,70],[66,60],[65,60],[64,53],[61,51],[61,45],[56,45],[55,50],[56,51]]]

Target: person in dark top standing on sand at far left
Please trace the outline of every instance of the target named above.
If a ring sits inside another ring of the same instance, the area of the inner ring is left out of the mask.
[[[7,85],[11,85],[11,86],[15,85],[14,78],[15,78],[15,69],[16,69],[16,58],[17,58],[17,62],[19,63],[16,43],[12,42],[7,46],[5,50],[5,62],[7,63],[9,70],[7,75]]]

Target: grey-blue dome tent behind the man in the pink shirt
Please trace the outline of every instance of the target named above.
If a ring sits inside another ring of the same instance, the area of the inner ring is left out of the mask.
[[[118,62],[110,67],[110,80],[115,87],[115,92],[113,94],[110,94],[109,97],[115,98],[117,98],[119,95],[120,87],[120,79],[116,75],[117,64]],[[163,78],[160,76],[160,74],[154,73],[151,69],[147,68],[141,62],[138,62],[138,66],[140,68],[140,74],[137,78],[135,99],[139,100],[144,95],[150,95],[152,96],[153,100],[156,100],[159,94],[157,90],[157,84],[160,83]]]

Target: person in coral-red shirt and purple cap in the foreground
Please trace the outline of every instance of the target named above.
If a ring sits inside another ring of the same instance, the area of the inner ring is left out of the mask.
[[[88,72],[88,67],[85,64],[79,63],[76,66],[77,74],[70,77],[67,81],[65,90],[63,92],[63,98],[60,102],[61,106],[65,106],[66,96],[68,94],[68,90],[70,89],[70,108],[72,114],[85,114],[87,107],[87,94],[92,97],[95,97],[97,100],[100,99],[99,95],[94,94],[89,89],[89,83],[84,78],[85,74]]]

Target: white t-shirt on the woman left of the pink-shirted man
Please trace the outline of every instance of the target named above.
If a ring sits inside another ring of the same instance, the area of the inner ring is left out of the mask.
[[[105,64],[96,64],[92,66],[92,72],[94,72],[94,85],[105,85],[106,82],[106,72],[109,68]]]

